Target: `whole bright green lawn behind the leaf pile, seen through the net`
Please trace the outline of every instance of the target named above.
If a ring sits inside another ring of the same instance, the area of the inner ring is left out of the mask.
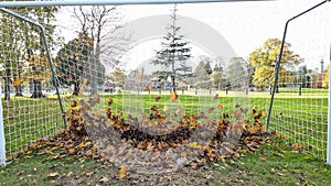
[[[152,106],[160,109],[167,108],[167,112],[175,112],[179,108],[186,113],[207,112],[211,108],[223,106],[222,110],[214,111],[212,118],[218,120],[222,113],[231,113],[236,105],[243,108],[257,106],[258,109],[267,112],[270,101],[268,92],[243,92],[209,90],[201,91],[203,96],[195,96],[194,91],[179,91],[179,99],[170,101],[169,91],[160,95],[161,99],[157,102],[154,98],[159,91],[124,92],[114,95],[102,95],[102,107],[107,107],[108,98],[115,100],[111,108],[122,111],[125,116],[132,114],[139,117],[142,111],[149,112]],[[220,98],[214,99],[218,94]],[[85,99],[85,98],[84,98]],[[64,105],[67,110],[72,103],[72,98],[64,97]],[[324,160],[327,155],[327,116],[328,116],[328,90],[323,89],[302,89],[299,96],[295,89],[280,89],[276,95],[273,108],[270,130],[282,133],[288,142],[303,145],[308,153]],[[249,117],[249,111],[247,117]],[[63,128],[62,117],[57,100],[54,97],[47,99],[19,98],[12,101],[3,101],[4,131],[7,141],[8,156],[23,150],[30,141],[42,136],[49,136]],[[175,120],[175,117],[172,119]]]

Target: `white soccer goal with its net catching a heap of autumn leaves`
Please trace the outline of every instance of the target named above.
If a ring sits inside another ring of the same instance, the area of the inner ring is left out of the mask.
[[[0,2],[0,164],[72,128],[139,171],[274,132],[330,163],[327,2]]]

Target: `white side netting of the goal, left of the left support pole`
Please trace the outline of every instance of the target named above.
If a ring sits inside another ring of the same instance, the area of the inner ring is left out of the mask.
[[[36,19],[32,10],[14,11]],[[6,152],[11,160],[30,142],[54,134],[64,124],[41,30],[4,12],[0,24]]]

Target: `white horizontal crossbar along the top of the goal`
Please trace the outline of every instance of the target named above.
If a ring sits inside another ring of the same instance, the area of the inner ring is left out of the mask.
[[[6,1],[0,8],[9,7],[47,7],[47,6],[124,6],[124,4],[167,4],[167,3],[199,3],[199,2],[238,2],[247,0],[56,0],[56,1]],[[274,0],[248,0],[274,1]]]

